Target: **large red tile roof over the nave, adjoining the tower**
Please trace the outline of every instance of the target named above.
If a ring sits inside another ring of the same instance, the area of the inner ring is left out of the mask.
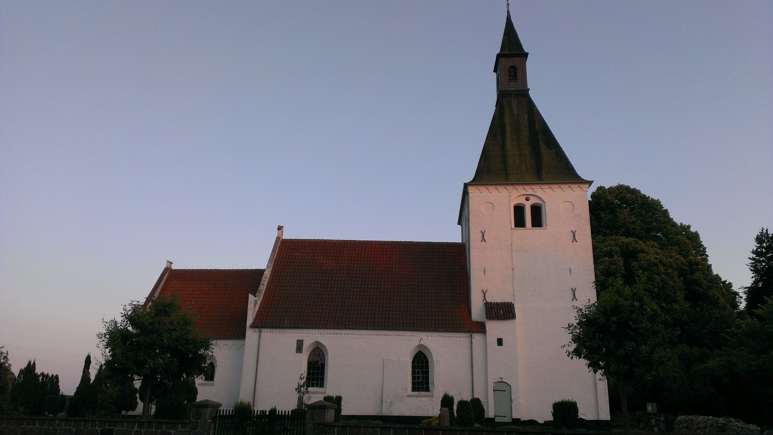
[[[253,327],[483,332],[465,245],[284,239]]]

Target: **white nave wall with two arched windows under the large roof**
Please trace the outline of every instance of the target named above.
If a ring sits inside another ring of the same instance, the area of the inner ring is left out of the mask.
[[[301,353],[295,352],[298,339],[304,341]],[[457,400],[472,397],[473,363],[482,373],[476,390],[485,392],[485,360],[471,355],[472,347],[473,354],[480,353],[484,342],[485,334],[468,332],[262,329],[254,407],[294,408],[298,376],[305,372],[308,353],[321,343],[325,388],[312,389],[312,401],[340,395],[346,415],[437,415],[443,393]],[[417,349],[431,359],[430,393],[410,392],[410,362]]]

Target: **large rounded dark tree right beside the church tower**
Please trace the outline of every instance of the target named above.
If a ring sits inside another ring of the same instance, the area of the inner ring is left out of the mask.
[[[737,293],[713,273],[700,235],[660,201],[633,187],[602,186],[591,194],[590,212],[598,303],[578,311],[574,331],[570,325],[570,354],[608,376],[621,406],[630,393],[638,405],[702,410],[716,392],[701,365],[727,345]],[[626,346],[594,348],[591,336]],[[625,353],[641,358],[626,363]]]

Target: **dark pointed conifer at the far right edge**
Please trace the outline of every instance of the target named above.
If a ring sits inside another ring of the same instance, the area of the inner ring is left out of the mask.
[[[768,228],[762,228],[754,238],[748,266],[751,284],[744,288],[744,309],[749,315],[757,315],[756,311],[764,305],[765,298],[773,298],[773,234]]]

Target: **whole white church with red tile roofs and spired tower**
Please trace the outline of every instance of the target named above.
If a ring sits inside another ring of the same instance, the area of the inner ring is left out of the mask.
[[[343,397],[350,416],[437,415],[441,396],[478,397],[500,422],[551,420],[577,401],[609,420],[607,385],[569,359],[574,305],[594,301],[580,177],[537,110],[509,12],[496,107],[461,191],[461,242],[284,238],[264,269],[175,269],[148,298],[176,295],[213,339],[199,400],[292,409]]]

